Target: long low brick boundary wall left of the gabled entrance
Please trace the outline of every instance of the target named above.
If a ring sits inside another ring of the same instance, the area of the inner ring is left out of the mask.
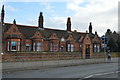
[[[3,61],[81,59],[80,52],[6,52]]]

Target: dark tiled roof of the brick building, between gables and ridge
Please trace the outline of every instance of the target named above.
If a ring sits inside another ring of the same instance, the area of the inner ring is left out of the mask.
[[[5,23],[4,31],[7,31],[12,25],[13,24],[11,23]],[[55,33],[59,39],[61,39],[62,37],[67,39],[71,34],[73,38],[76,41],[78,41],[81,38],[81,36],[85,37],[86,34],[88,34],[82,32],[68,32],[66,30],[58,30],[58,29],[50,29],[50,28],[39,29],[37,26],[26,26],[26,25],[18,25],[18,24],[16,24],[16,26],[18,27],[20,32],[25,35],[26,38],[30,38],[34,35],[36,31],[40,31],[41,35],[45,39],[48,39],[53,33]],[[89,36],[91,40],[94,38],[94,34],[89,34]]]

